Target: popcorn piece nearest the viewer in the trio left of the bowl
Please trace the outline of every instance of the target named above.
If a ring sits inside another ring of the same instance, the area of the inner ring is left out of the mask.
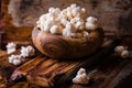
[[[13,64],[13,65],[20,65],[21,64],[21,55],[11,55],[9,57],[9,63]]]

